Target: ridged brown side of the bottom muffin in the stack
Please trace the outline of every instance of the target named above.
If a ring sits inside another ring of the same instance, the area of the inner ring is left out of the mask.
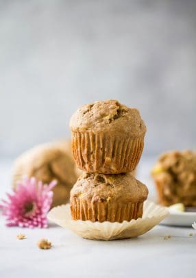
[[[79,200],[73,198],[71,202],[71,215],[73,220],[123,222],[137,219],[143,215],[143,202],[138,203],[112,203]]]

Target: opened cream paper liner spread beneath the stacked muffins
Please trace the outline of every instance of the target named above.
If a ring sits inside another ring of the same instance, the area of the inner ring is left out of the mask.
[[[49,220],[63,228],[70,229],[82,238],[90,240],[117,240],[123,238],[134,238],[146,233],[161,220],[169,211],[166,207],[161,207],[153,202],[145,201],[142,218],[132,219],[130,222],[91,222],[89,220],[73,220],[69,204],[54,207],[48,214]]]

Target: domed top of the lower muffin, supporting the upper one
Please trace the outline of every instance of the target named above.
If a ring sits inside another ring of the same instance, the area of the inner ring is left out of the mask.
[[[71,190],[71,199],[137,203],[147,199],[148,189],[130,173],[103,175],[83,173]]]

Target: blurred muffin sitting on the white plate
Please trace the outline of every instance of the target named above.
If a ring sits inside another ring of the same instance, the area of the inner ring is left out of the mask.
[[[169,151],[158,159],[152,169],[158,201],[162,205],[183,203],[196,206],[196,153]]]

